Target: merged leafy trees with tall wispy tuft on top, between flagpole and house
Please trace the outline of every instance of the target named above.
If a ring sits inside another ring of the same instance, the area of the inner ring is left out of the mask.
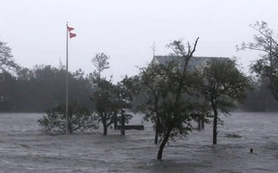
[[[93,59],[94,66],[97,71],[89,75],[93,86],[93,94],[90,99],[94,103],[95,110],[98,114],[98,119],[103,123],[103,134],[107,135],[107,127],[113,122],[120,121],[118,113],[122,109],[131,108],[130,101],[138,94],[139,77],[133,76],[125,78],[116,85],[111,79],[101,77],[101,72],[109,68],[109,58],[104,54],[96,54]],[[125,114],[125,122],[131,119],[131,114]]]

